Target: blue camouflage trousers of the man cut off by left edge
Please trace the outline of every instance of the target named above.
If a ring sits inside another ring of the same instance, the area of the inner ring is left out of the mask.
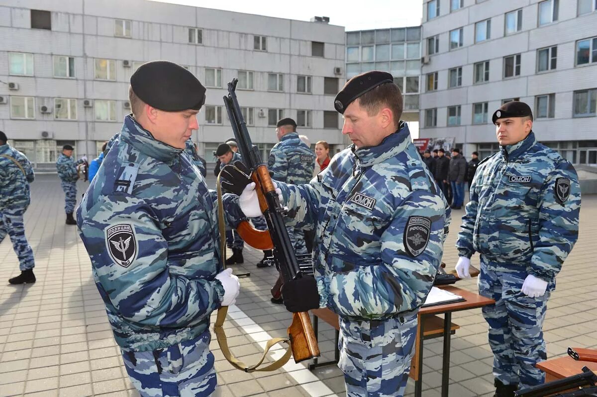
[[[10,235],[10,241],[13,243],[14,253],[19,258],[19,269],[21,271],[33,269],[33,250],[27,238],[25,238],[25,226],[23,223],[23,213],[27,207],[5,208],[0,212],[0,243],[6,235]]]

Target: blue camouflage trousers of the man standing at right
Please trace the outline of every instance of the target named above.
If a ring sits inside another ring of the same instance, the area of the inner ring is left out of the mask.
[[[545,373],[535,365],[547,359],[543,321],[549,288],[541,297],[528,297],[521,291],[526,270],[503,270],[481,257],[479,294],[496,300],[482,308],[489,324],[493,374],[503,384],[518,384],[519,389],[537,386],[545,380]]]

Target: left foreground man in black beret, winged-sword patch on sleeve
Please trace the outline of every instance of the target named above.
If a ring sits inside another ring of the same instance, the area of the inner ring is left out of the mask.
[[[131,76],[133,114],[77,210],[79,234],[128,375],[141,396],[216,389],[210,314],[235,302],[223,270],[216,192],[184,152],[205,88],[183,67],[145,63]],[[224,216],[244,216],[224,197]]]

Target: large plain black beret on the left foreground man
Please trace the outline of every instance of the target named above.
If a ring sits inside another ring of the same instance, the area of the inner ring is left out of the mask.
[[[205,103],[205,87],[193,73],[170,61],[142,64],[131,87],[141,101],[164,111],[199,110]]]

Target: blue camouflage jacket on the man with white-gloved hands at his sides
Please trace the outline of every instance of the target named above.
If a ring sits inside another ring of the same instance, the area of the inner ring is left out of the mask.
[[[580,185],[574,167],[531,132],[479,163],[456,247],[498,271],[526,271],[550,283],[578,238]]]

